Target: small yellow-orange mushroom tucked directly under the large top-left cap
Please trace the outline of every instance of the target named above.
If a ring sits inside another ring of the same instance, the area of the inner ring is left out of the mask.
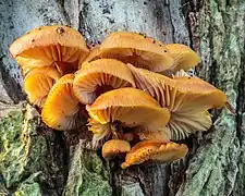
[[[24,90],[29,102],[42,107],[53,84],[61,77],[57,69],[41,66],[32,70],[24,79]]]

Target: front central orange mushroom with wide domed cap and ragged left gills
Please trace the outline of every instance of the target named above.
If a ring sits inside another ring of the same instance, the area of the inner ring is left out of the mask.
[[[164,126],[170,118],[168,109],[160,108],[152,97],[130,87],[107,91],[86,109],[91,119],[89,131],[94,133],[95,143],[111,134],[113,122],[119,121],[127,127],[157,130]]]

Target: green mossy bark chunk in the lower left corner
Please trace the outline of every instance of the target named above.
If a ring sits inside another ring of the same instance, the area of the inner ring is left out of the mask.
[[[27,106],[0,120],[0,173],[4,187],[15,195],[41,195],[42,182],[50,182],[46,138],[37,134],[38,117]]]

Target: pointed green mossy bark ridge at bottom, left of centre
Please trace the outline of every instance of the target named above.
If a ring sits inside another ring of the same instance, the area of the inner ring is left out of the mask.
[[[110,196],[109,172],[96,151],[77,145],[69,173],[65,196]]]

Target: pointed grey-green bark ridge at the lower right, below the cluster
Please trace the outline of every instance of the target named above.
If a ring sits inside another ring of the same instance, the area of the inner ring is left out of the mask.
[[[183,196],[225,195],[233,188],[240,154],[234,117],[223,111],[210,138],[189,164]]]

